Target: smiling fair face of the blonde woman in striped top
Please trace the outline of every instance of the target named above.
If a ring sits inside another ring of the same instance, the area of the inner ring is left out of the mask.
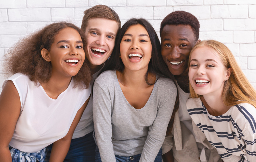
[[[220,56],[207,46],[196,48],[190,57],[188,76],[196,94],[215,97],[222,95],[231,68],[227,69]]]

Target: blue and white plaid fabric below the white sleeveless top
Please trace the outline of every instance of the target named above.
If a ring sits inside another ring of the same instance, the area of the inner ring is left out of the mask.
[[[18,149],[14,149],[11,146],[9,146],[9,149],[12,156],[12,162],[22,162],[22,156],[25,157],[26,162],[44,162],[45,148],[43,150],[32,153],[23,152]]]

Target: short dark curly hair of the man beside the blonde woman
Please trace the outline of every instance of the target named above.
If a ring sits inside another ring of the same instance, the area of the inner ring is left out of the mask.
[[[174,11],[168,14],[160,25],[160,36],[165,25],[189,25],[194,33],[195,41],[199,39],[200,24],[198,19],[189,12],[186,11]]]

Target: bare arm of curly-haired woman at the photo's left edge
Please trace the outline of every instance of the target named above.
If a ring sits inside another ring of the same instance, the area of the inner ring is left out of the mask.
[[[0,95],[0,161],[11,162],[9,143],[20,116],[20,96],[12,81],[7,81]]]

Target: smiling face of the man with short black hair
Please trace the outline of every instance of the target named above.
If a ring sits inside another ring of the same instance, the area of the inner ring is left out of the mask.
[[[189,25],[166,25],[161,34],[161,54],[173,75],[188,68],[190,50],[195,46],[194,32]]]

